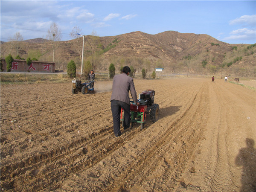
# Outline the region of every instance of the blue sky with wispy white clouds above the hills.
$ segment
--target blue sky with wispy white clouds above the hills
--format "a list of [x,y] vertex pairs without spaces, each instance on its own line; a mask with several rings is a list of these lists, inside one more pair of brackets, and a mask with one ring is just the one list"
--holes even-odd
[[63,41],[81,34],[115,36],[141,31],[207,34],[230,44],[256,43],[256,1],[68,1],[1,0],[1,41],[46,38],[52,22]]

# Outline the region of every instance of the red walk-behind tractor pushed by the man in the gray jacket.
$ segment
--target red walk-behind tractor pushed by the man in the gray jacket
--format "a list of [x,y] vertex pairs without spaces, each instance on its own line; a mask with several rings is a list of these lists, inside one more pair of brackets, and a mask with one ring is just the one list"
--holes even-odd
[[[140,123],[141,130],[143,129],[144,123],[146,122],[146,114],[150,114],[151,122],[156,122],[159,118],[159,105],[154,103],[154,90],[145,90],[139,94],[138,102],[140,105],[135,105],[135,103],[130,100],[130,115],[131,115],[131,127],[133,123]],[[121,109],[120,120],[123,125],[124,116],[123,109]]]

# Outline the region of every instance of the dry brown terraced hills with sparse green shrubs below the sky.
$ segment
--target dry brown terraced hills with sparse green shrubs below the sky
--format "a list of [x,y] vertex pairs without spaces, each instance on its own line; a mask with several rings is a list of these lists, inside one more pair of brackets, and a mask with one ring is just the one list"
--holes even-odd
[[[56,67],[65,67],[72,59],[77,67],[81,66],[82,40],[51,41],[36,38],[22,42],[4,42],[1,44],[1,57],[12,53],[22,58],[38,58],[53,61]],[[53,47],[54,45],[54,47]],[[14,56],[15,58],[15,56]],[[115,66],[143,67],[148,71],[154,67],[166,70],[188,67],[199,68],[245,68],[255,70],[255,44],[227,44],[209,35],[179,33],[175,31],[150,35],[144,32],[130,32],[116,36],[85,36],[84,61],[90,61],[94,69],[107,69],[110,63]]]

